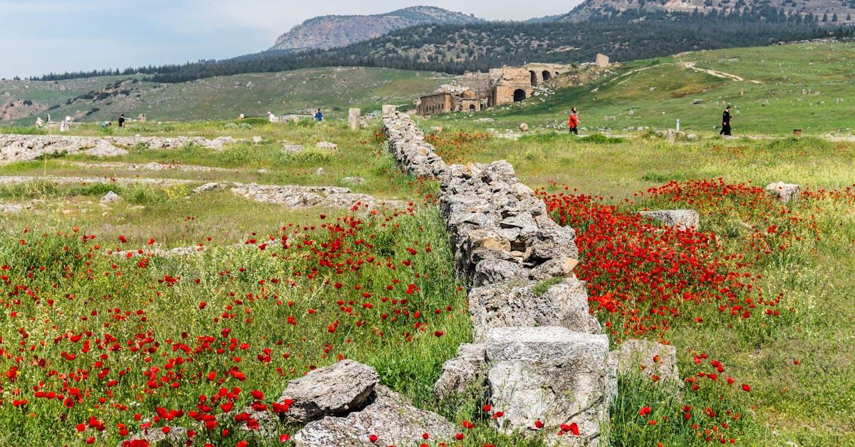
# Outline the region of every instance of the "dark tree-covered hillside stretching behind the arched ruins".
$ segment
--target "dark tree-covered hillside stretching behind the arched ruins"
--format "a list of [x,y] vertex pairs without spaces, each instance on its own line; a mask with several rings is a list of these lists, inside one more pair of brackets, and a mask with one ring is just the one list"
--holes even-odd
[[[665,57],[681,51],[769,45],[780,41],[846,37],[852,27],[765,21],[763,16],[717,18],[683,15],[680,20],[623,19],[585,23],[504,22],[465,26],[409,27],[344,48],[268,54],[217,63],[139,69],[156,82],[183,82],[218,75],[352,66],[463,74],[529,62],[591,62],[597,53],[614,61]],[[728,36],[722,39],[722,36]]]

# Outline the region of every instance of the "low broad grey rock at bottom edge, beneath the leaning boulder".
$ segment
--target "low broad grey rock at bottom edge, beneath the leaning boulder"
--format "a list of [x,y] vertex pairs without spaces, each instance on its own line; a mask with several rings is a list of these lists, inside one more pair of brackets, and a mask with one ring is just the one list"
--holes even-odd
[[[454,429],[439,414],[413,407],[403,396],[378,385],[374,401],[362,411],[310,422],[293,441],[297,447],[420,445],[450,441]],[[428,433],[428,441],[422,438],[424,433]],[[371,435],[377,437],[374,442]]]

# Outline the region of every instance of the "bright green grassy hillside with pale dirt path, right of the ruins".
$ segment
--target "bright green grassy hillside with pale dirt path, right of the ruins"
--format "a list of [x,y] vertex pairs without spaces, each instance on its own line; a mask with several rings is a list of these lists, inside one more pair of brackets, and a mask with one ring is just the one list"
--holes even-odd
[[852,41],[682,53],[623,64],[591,85],[475,116],[475,125],[501,132],[520,122],[563,127],[575,106],[587,133],[674,128],[679,119],[684,131],[716,134],[722,110],[732,104],[735,134],[783,135],[801,128],[805,134],[852,135],[853,61]]

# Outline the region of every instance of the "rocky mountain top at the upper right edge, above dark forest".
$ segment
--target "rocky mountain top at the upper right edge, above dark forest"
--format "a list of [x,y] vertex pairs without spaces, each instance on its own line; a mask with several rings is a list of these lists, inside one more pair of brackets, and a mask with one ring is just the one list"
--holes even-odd
[[559,21],[581,22],[621,15],[645,17],[658,13],[809,15],[826,25],[852,23],[855,0],[585,0]]

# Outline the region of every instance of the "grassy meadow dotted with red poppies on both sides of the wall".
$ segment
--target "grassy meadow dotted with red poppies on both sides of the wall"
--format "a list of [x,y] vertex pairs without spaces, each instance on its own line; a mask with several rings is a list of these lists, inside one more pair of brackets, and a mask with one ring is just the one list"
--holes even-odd
[[[115,160],[223,170],[87,175],[333,186],[361,176],[355,192],[406,206],[295,211],[183,186],[116,187],[126,200],[103,206],[102,187],[3,186],[3,202],[36,205],[0,215],[0,444],[118,445],[183,427],[190,445],[289,445],[299,426],[263,433],[243,409],[278,417],[288,379],[348,358],[451,420],[448,445],[543,445],[536,430],[492,431],[502,408],[478,390],[433,397],[442,363],[471,341],[467,284],[434,206],[436,183],[399,174],[376,129],[149,126],[143,134],[265,141],[216,153],[131,148]],[[283,157],[283,138],[340,149]],[[610,445],[855,442],[855,171],[846,161],[855,147],[515,141],[466,128],[430,138],[450,162],[509,159],[551,217],[576,230],[575,273],[613,349],[632,338],[677,349],[679,392],[656,377],[619,378]],[[82,175],[80,164],[95,161],[41,159],[0,173]],[[801,184],[799,200],[764,191],[779,180]],[[681,208],[700,213],[698,228],[638,214]],[[156,253],[171,247],[198,249]]]

